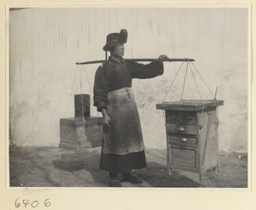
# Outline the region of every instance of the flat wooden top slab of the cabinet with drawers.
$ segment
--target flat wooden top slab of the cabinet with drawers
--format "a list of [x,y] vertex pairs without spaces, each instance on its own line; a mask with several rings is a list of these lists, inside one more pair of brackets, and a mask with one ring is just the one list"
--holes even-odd
[[[214,105],[213,105],[214,104]],[[205,109],[215,108],[219,105],[224,105],[224,100],[180,100],[175,102],[163,102],[156,104],[157,110],[171,111],[201,111]]]

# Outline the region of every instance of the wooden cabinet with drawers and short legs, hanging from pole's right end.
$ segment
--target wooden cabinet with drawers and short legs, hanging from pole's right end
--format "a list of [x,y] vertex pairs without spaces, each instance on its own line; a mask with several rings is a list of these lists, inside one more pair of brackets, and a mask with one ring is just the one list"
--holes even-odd
[[200,174],[219,170],[218,106],[223,100],[181,100],[157,104],[165,110],[167,167]]

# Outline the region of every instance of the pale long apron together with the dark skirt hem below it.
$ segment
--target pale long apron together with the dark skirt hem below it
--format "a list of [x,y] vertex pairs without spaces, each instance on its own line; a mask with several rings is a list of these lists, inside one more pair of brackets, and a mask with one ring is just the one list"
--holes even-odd
[[100,167],[113,173],[146,167],[143,133],[131,88],[108,93],[110,127],[103,129]]

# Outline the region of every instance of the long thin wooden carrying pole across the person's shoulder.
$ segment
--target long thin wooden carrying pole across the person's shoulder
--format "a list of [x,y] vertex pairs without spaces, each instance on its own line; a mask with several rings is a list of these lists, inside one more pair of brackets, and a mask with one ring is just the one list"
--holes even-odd
[[[133,62],[151,62],[151,61],[156,61],[156,60],[159,60],[159,59],[125,59],[126,61],[133,61]],[[79,63],[77,62],[76,65],[87,65],[87,64],[98,64],[98,63],[103,63],[104,61],[106,60],[92,60],[92,61],[86,61],[86,62],[82,62],[82,63]],[[185,62],[188,62],[188,61],[195,61],[194,59],[164,59],[162,61],[165,61],[165,62],[180,62],[180,61],[185,61]]]

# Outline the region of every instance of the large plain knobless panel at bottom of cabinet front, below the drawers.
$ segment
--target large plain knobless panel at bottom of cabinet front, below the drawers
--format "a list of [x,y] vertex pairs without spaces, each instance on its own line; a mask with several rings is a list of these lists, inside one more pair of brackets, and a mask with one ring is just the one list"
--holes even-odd
[[172,146],[170,149],[171,149],[171,160],[170,160],[171,165],[180,166],[180,167],[198,168],[196,149],[182,150],[174,146]]

